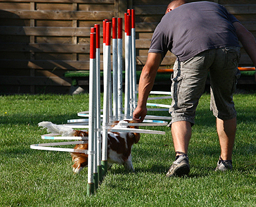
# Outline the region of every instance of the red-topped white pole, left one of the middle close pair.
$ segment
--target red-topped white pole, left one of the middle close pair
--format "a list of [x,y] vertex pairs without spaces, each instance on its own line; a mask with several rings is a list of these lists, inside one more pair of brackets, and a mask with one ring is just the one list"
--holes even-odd
[[113,120],[118,119],[118,39],[117,18],[112,18],[112,62],[113,62]]

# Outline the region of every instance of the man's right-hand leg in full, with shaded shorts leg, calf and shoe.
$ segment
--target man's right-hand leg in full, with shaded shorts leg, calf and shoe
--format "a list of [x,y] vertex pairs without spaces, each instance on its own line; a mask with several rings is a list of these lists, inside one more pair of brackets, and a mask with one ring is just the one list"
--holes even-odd
[[221,146],[221,155],[215,170],[232,169],[232,149],[237,128],[237,112],[232,94],[240,76],[237,69],[239,57],[239,48],[219,48],[210,67],[210,107],[213,115],[217,117],[217,133]]

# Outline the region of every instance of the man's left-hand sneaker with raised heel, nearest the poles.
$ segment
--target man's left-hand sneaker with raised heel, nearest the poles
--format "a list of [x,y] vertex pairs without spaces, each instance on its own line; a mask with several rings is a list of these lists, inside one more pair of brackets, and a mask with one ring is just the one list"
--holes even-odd
[[170,169],[168,170],[166,176],[182,176],[188,175],[190,172],[190,164],[188,161],[188,155],[181,155],[178,159],[176,159]]

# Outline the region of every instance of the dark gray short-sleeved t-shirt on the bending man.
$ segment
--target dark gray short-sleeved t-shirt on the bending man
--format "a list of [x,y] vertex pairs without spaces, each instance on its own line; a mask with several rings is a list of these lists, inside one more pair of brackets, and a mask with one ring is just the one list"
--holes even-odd
[[205,50],[239,47],[232,25],[238,21],[226,8],[210,1],[185,3],[168,12],[158,23],[149,52],[165,57],[170,50],[185,61]]

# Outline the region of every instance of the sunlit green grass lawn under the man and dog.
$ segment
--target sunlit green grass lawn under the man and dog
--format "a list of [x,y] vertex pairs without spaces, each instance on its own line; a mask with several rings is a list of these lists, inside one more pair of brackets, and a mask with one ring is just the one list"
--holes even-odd
[[165,177],[174,159],[170,128],[147,127],[166,135],[141,135],[132,150],[135,172],[114,165],[91,197],[86,196],[86,170],[73,175],[68,152],[30,149],[48,142],[41,139],[46,130],[38,122],[77,119],[77,112],[88,109],[88,98],[0,97],[0,206],[256,206],[255,94],[234,97],[238,125],[231,172],[214,172],[219,142],[210,95],[203,95],[192,129],[188,177]]

